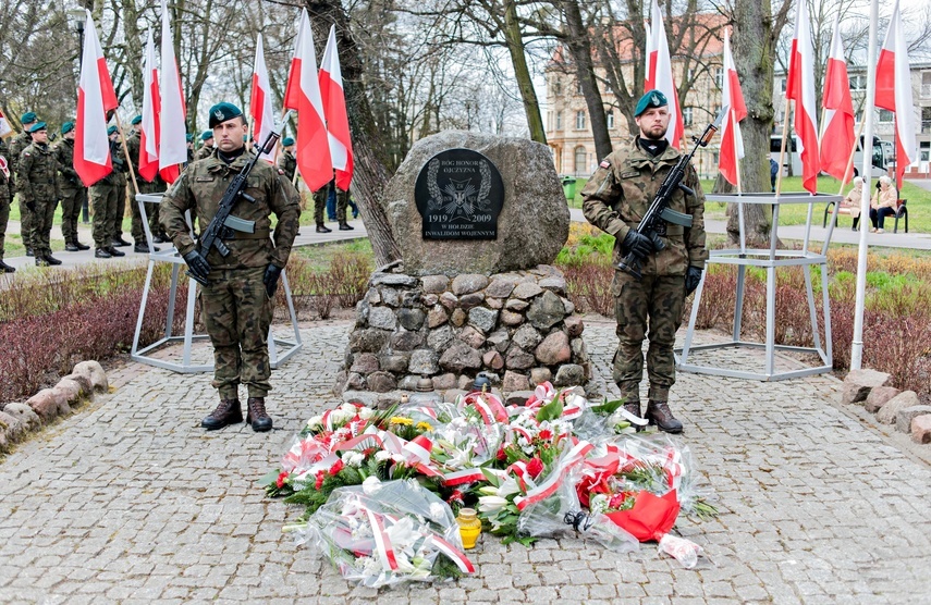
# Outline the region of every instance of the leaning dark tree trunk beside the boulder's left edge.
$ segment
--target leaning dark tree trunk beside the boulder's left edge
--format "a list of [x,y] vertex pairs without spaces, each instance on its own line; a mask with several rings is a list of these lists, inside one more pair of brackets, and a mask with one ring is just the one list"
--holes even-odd
[[[353,136],[355,168],[353,171],[353,199],[358,203],[363,222],[371,240],[375,260],[378,266],[388,264],[401,258],[401,251],[391,232],[391,223],[381,205],[384,186],[391,176],[385,168],[388,153],[381,133],[375,122],[368,104],[363,65],[359,50],[350,29],[350,21],[339,0],[314,2],[305,0],[307,12],[315,27],[315,38],[326,40],[322,29],[330,23],[336,25],[336,42],[340,52],[343,86],[346,96],[346,111]],[[318,57],[321,53],[318,52]]]

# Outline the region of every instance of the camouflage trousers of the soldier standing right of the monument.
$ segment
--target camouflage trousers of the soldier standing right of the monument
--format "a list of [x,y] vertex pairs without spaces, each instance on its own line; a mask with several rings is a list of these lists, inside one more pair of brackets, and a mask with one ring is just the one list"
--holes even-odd
[[649,398],[667,402],[675,383],[675,333],[682,323],[685,301],[684,275],[644,275],[639,282],[624,273],[614,272],[611,284],[615,296],[617,319],[617,351],[614,354],[614,382],[628,402],[640,400],[644,376],[644,338],[648,335],[647,373],[650,378]]

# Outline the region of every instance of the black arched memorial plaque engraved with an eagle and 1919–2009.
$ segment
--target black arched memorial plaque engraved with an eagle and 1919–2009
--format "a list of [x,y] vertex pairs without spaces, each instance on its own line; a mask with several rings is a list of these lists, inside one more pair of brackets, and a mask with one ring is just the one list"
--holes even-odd
[[414,187],[424,239],[497,239],[504,183],[471,149],[448,149],[424,165]]

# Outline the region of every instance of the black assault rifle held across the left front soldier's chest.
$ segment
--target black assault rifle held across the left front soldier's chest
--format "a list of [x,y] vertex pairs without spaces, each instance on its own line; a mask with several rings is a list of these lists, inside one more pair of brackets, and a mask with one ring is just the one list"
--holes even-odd
[[[255,233],[255,221],[246,221],[244,219],[233,217],[231,212],[241,198],[249,203],[256,202],[256,199],[245,192],[246,184],[249,180],[249,173],[252,173],[253,169],[256,166],[256,162],[258,162],[258,159],[262,153],[270,153],[274,149],[274,145],[278,143],[278,139],[281,138],[281,129],[284,127],[284,124],[287,122],[290,116],[291,111],[289,110],[287,113],[284,114],[284,118],[282,118],[281,122],[277,126],[272,126],[271,132],[268,134],[268,137],[266,137],[261,148],[256,149],[256,153],[253,155],[252,159],[243,166],[243,170],[241,170],[240,173],[230,182],[230,185],[226,186],[226,190],[223,193],[223,198],[220,200],[220,206],[217,208],[217,213],[213,214],[213,219],[210,221],[210,224],[207,225],[207,229],[204,230],[198,239],[197,251],[200,252],[200,256],[204,257],[205,260],[207,259],[207,255],[210,252],[211,248],[217,248],[220,256],[226,258],[230,255],[230,248],[223,244],[223,239],[234,237],[234,231]],[[200,285],[210,285],[209,281],[194,275],[191,271],[186,271],[186,273],[192,280],[196,281]]]

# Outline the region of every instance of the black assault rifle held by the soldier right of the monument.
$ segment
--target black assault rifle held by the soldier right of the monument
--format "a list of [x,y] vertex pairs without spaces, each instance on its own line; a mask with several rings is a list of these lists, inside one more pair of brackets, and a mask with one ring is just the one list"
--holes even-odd
[[[721,111],[718,112],[718,116],[714,118],[714,122],[705,128],[705,133],[702,133],[700,137],[691,137],[691,140],[695,141],[695,147],[691,148],[691,151],[687,156],[682,156],[678,159],[678,163],[676,163],[670,173],[666,174],[666,177],[660,185],[659,190],[657,190],[656,197],[653,197],[652,203],[650,203],[650,207],[647,209],[647,213],[644,214],[644,219],[640,221],[640,224],[637,225],[637,229],[635,230],[637,233],[646,235],[647,237],[650,237],[650,239],[654,239],[651,235],[657,233],[658,227],[661,225],[660,221],[682,225],[686,229],[691,226],[691,215],[676,212],[670,208],[670,200],[672,200],[672,196],[676,189],[682,189],[687,196],[695,196],[695,190],[690,187],[686,187],[682,183],[682,180],[685,178],[685,171],[688,169],[691,157],[695,156],[698,148],[707,146],[714,137],[714,133],[716,133],[718,128],[721,126],[721,121],[724,119],[724,115],[726,115],[728,109],[730,108],[727,106],[721,108]],[[629,252],[621,262],[618,262],[617,269],[625,273],[629,273],[637,280],[642,277],[640,274],[640,257],[634,252]]]

